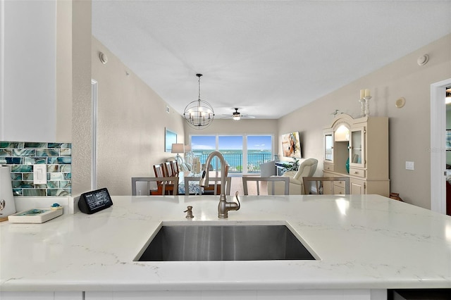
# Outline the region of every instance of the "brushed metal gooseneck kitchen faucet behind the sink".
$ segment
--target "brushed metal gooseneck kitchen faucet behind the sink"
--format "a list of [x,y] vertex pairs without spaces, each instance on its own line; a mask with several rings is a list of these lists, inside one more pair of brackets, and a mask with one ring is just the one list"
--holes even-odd
[[213,151],[206,158],[205,167],[202,171],[202,177],[199,180],[199,185],[201,187],[209,186],[209,165],[211,163],[211,159],[214,156],[218,156],[219,161],[221,161],[221,195],[219,196],[219,204],[218,204],[218,218],[226,219],[228,218],[228,211],[237,211],[240,209],[240,202],[227,202],[226,199],[226,173],[224,170],[226,169],[226,160],[224,156],[219,151]]

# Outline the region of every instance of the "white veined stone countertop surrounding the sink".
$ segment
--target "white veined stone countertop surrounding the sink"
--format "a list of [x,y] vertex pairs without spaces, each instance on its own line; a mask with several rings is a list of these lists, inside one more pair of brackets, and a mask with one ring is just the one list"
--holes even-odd
[[[112,199],[93,215],[1,223],[0,290],[451,288],[451,217],[383,196],[242,196],[227,220],[218,196]],[[162,222],[287,224],[319,260],[133,261]]]

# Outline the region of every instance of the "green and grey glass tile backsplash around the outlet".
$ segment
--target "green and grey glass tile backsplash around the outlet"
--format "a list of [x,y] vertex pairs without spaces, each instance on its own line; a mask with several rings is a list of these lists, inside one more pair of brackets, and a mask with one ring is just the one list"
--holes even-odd
[[[2,142],[0,165],[11,168],[14,196],[70,196],[70,143]],[[33,165],[47,165],[47,185],[33,183]]]

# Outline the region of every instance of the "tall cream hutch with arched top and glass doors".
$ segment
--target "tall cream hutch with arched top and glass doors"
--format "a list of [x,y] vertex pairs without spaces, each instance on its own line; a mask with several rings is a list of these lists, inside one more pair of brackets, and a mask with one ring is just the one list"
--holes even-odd
[[387,117],[342,114],[323,137],[324,176],[349,176],[351,194],[390,195]]

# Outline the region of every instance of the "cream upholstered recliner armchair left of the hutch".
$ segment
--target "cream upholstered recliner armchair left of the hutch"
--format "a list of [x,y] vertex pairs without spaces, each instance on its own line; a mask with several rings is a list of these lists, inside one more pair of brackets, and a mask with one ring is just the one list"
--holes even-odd
[[[304,182],[302,182],[302,177],[313,176],[317,166],[317,159],[308,158],[299,165],[297,171],[287,171],[283,173],[282,176],[290,177],[290,195],[304,194]],[[274,189],[274,194],[283,194],[283,185],[280,185],[280,182],[276,182]],[[272,185],[268,185],[268,194],[272,194]]]

